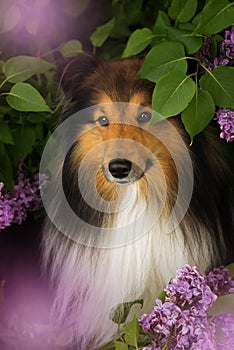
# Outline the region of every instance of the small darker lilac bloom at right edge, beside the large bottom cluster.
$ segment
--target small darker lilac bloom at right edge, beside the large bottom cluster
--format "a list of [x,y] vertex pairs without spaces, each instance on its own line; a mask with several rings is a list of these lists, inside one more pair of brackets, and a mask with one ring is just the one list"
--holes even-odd
[[205,276],[207,285],[217,296],[234,293],[234,281],[223,266],[215,268]]

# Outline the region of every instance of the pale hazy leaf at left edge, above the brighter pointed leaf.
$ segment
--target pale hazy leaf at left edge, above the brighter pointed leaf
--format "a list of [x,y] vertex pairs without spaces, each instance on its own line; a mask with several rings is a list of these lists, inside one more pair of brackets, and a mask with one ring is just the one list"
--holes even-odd
[[3,65],[3,73],[11,83],[18,83],[34,74],[43,74],[54,67],[54,64],[39,57],[16,56]]

